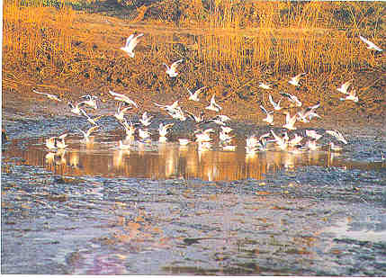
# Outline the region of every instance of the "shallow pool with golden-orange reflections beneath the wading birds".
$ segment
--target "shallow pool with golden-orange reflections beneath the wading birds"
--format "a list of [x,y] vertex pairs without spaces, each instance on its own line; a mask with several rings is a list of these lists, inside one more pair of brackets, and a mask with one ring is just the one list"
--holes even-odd
[[239,139],[234,151],[213,144],[211,150],[200,151],[196,143],[180,146],[178,142],[130,142],[130,149],[118,148],[119,135],[95,136],[88,142],[68,136],[68,147],[49,151],[46,138],[14,139],[4,149],[4,161],[19,165],[43,166],[58,175],[89,175],[104,177],[138,177],[151,179],[201,179],[231,181],[263,179],[267,173],[293,171],[299,166],[337,166],[345,169],[376,170],[385,168],[382,162],[357,162],[345,159],[343,153],[330,152],[328,147],[301,153],[271,148],[248,155],[244,140]]

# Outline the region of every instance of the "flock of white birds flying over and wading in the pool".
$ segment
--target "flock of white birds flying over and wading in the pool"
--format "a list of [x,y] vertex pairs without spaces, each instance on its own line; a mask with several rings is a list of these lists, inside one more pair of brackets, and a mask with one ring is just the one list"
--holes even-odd
[[[125,51],[130,58],[134,58],[135,54],[133,50],[139,43],[139,39],[143,36],[142,33],[139,35],[131,34],[130,37],[126,40],[126,44],[121,50]],[[364,43],[367,44],[368,49],[374,49],[376,51],[382,51],[381,48],[376,46],[372,41],[364,39],[362,36],[359,37]],[[179,59],[175,61],[170,67],[165,63],[163,65],[166,66],[166,74],[170,78],[175,78],[178,76],[177,68],[179,64],[183,62],[183,59]],[[288,84],[293,85],[295,87],[301,86],[301,77],[306,75],[306,73],[301,73],[297,76],[292,77]],[[358,96],[356,95],[355,89],[348,90],[350,85],[352,85],[353,80],[349,80],[339,88],[337,91],[341,94],[344,94],[345,97],[340,98],[341,101],[353,101],[358,102]],[[272,85],[265,84],[264,82],[260,82],[259,87],[266,92],[273,92]],[[192,92],[187,89],[188,100],[192,102],[200,102],[200,94],[207,87],[203,86]],[[62,102],[58,96],[54,94],[40,93],[36,90],[33,90],[36,94],[44,94],[49,99],[54,100],[56,102]],[[141,142],[149,142],[151,141],[152,133],[148,129],[152,116],[148,115],[148,112],[143,112],[139,122],[133,123],[132,121],[127,121],[125,118],[125,113],[130,111],[131,109],[139,108],[138,104],[130,99],[125,94],[118,94],[112,91],[109,91],[110,96],[117,102],[117,110],[114,112],[113,116],[115,119],[121,124],[122,129],[125,131],[126,137],[118,142],[117,148],[121,150],[129,150],[132,146],[132,143],[135,141],[135,137]],[[342,149],[340,145],[337,145],[337,142],[347,144],[347,140],[338,130],[325,130],[325,134],[319,134],[316,130],[305,130],[305,134],[300,134],[300,132],[296,133],[293,130],[297,130],[295,123],[297,121],[301,122],[310,122],[314,118],[321,118],[317,113],[317,110],[320,106],[320,103],[316,103],[310,107],[302,108],[303,104],[299,100],[299,98],[294,94],[288,93],[279,93],[281,95],[281,99],[277,102],[274,101],[273,94],[268,93],[269,103],[272,107],[264,107],[260,105],[260,108],[263,112],[265,112],[266,117],[263,121],[266,122],[269,126],[274,126],[274,112],[280,112],[283,110],[283,114],[285,115],[285,123],[282,125],[281,133],[276,134],[274,130],[270,130],[263,135],[253,134],[246,139],[245,150],[247,155],[253,155],[257,151],[265,151],[270,148],[279,148],[281,150],[287,150],[290,152],[300,152],[304,150],[315,150],[323,147],[323,145],[318,144],[319,139],[323,137],[323,135],[329,135],[331,137],[330,142],[328,144],[328,148],[331,151],[339,151]],[[289,105],[284,107],[282,105],[282,101],[286,100]],[[83,135],[85,141],[87,141],[90,136],[93,134],[95,130],[99,128],[97,121],[101,119],[103,116],[98,116],[96,118],[92,118],[86,112],[86,108],[89,109],[98,109],[98,97],[95,95],[87,94],[81,96],[78,103],[68,102],[67,105],[71,112],[74,114],[85,117],[85,119],[92,125],[88,130],[79,130]],[[220,114],[219,112],[222,110],[222,107],[216,103],[215,95],[211,96],[211,102],[204,109],[211,112],[217,112],[219,114],[211,117],[210,119],[205,119],[205,112],[201,112],[200,115],[195,115],[191,112],[184,112],[183,108],[179,105],[178,100],[171,104],[161,104],[154,103],[161,111],[166,112],[171,118],[179,121],[194,121],[196,130],[189,138],[180,138],[178,139],[178,143],[181,146],[186,146],[191,143],[196,143],[198,150],[208,150],[214,148],[214,138],[211,137],[211,134],[218,133],[219,147],[223,150],[234,151],[237,146],[232,144],[234,139],[234,135],[231,135],[232,128],[228,126],[228,122],[230,118],[226,115]],[[293,109],[298,109],[297,112],[294,112],[291,115],[290,111]],[[202,124],[204,123],[215,123],[217,129],[215,128],[207,128],[202,129]],[[166,135],[169,130],[174,126],[175,123],[163,123],[159,124],[157,129],[158,140],[160,142],[166,142]],[[277,126],[276,126],[277,127]],[[285,130],[285,131],[283,131]],[[138,131],[138,132],[137,132]],[[292,132],[289,134],[289,132]],[[67,148],[66,139],[67,133],[62,134],[58,137],[51,137],[46,139],[46,147],[51,151],[55,150],[63,150]],[[334,139],[334,140],[332,140]],[[302,143],[302,141],[306,141]],[[52,155],[51,153],[50,155]]]

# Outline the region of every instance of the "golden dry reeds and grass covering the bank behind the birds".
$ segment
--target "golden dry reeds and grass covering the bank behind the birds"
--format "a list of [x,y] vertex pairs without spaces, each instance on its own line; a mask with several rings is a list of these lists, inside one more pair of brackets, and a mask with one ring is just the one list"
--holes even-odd
[[[378,25],[368,27],[368,21],[376,24],[382,17],[382,4],[371,4],[370,19],[362,3],[216,2],[207,17],[181,22],[200,29],[176,29],[154,20],[148,20],[151,26],[130,26],[113,17],[75,12],[65,4],[56,9],[39,2],[23,6],[18,0],[7,0],[4,89],[43,87],[65,95],[75,87],[92,91],[107,86],[146,98],[159,93],[177,97],[186,94],[185,87],[209,85],[223,100],[239,100],[258,94],[259,81],[287,89],[286,78],[308,72],[306,89],[299,94],[307,102],[328,104],[332,86],[364,69],[382,72],[384,68],[384,56],[375,56],[357,39],[363,34],[382,42],[384,30]],[[200,1],[192,3],[189,8],[195,14],[194,3]],[[343,5],[350,11],[346,25],[331,16]],[[119,48],[133,31],[146,36],[131,59]],[[170,80],[162,62],[179,58],[184,58],[182,74]],[[314,94],[319,98],[310,97]],[[264,102],[264,94],[257,95],[257,100]]]

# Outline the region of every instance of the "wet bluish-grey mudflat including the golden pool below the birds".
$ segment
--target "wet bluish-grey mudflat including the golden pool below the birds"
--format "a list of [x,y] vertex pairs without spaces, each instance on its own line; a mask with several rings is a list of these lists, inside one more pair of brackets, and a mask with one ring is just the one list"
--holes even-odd
[[[246,134],[265,128],[238,124],[236,151],[200,154],[175,143],[189,130],[176,125],[166,143],[121,152],[118,125],[87,147],[80,124],[7,127],[4,274],[386,274],[384,141],[347,134],[340,154],[246,157]],[[69,146],[50,160],[44,140],[60,125]]]

